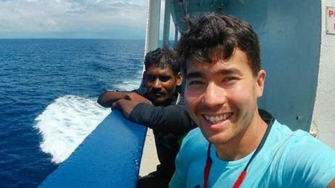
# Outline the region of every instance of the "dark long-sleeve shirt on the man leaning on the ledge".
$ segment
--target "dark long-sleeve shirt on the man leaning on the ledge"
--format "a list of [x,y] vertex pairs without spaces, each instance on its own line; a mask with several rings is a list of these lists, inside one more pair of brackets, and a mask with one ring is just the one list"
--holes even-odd
[[131,120],[154,131],[157,155],[161,162],[157,171],[169,179],[174,173],[174,159],[179,152],[181,140],[196,127],[186,107],[176,104],[176,101],[177,99],[173,100],[172,104],[166,107],[140,103],[130,114]]

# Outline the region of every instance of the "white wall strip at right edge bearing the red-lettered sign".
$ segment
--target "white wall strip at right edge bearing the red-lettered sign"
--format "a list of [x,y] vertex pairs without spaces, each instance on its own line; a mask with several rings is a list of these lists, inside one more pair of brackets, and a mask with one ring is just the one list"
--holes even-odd
[[[330,9],[332,10],[329,10]],[[311,120],[311,133],[335,148],[335,1],[321,1],[318,79]],[[334,14],[332,14],[332,12]],[[326,23],[327,21],[327,23]],[[332,33],[327,31],[327,24]],[[306,38],[308,40],[308,38]]]

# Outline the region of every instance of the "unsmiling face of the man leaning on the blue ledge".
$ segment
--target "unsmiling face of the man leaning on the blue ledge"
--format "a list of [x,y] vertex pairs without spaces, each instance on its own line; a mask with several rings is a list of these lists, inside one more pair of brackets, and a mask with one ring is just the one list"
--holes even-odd
[[144,72],[144,82],[149,94],[149,100],[154,104],[162,104],[170,100],[181,85],[181,74],[174,75],[172,68],[159,68],[157,64]]

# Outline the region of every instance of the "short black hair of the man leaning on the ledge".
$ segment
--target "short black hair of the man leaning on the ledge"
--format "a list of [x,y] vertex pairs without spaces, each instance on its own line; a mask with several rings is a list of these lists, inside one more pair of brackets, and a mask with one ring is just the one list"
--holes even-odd
[[167,48],[157,48],[145,55],[144,59],[145,70],[148,70],[152,65],[158,65],[159,68],[172,68],[174,75],[180,71],[180,63],[177,61],[177,52]]

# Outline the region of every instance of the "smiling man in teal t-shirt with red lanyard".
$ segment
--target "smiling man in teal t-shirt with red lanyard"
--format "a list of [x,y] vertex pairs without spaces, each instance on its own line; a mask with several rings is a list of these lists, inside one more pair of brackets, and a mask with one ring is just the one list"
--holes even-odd
[[335,187],[334,150],[258,109],[266,72],[251,26],[218,14],[188,23],[177,50],[199,128],[182,143],[170,187]]

